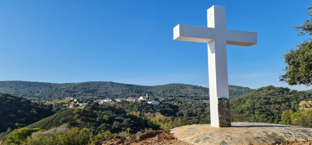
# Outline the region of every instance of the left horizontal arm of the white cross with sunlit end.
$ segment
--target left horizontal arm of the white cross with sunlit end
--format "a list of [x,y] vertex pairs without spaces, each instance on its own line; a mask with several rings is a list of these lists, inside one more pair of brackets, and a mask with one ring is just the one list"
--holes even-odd
[[181,24],[173,28],[173,40],[208,43],[214,37],[214,28]]

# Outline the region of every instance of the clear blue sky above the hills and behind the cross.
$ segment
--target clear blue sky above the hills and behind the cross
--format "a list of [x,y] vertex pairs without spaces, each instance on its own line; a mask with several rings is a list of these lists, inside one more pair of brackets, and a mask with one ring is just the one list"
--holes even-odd
[[173,41],[177,24],[207,26],[226,7],[227,29],[258,33],[251,47],[227,45],[229,84],[307,90],[279,81],[309,1],[0,1],[0,80],[113,81],[208,87],[207,44]]

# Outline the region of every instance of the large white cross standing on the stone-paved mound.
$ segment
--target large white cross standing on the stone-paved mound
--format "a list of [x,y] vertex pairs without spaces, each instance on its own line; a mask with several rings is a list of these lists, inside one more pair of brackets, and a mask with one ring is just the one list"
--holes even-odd
[[207,27],[179,24],[173,28],[173,39],[208,43],[211,126],[225,127],[219,122],[224,116],[218,111],[218,98],[229,99],[226,44],[254,45],[257,33],[226,29],[225,7],[214,5],[207,10]]

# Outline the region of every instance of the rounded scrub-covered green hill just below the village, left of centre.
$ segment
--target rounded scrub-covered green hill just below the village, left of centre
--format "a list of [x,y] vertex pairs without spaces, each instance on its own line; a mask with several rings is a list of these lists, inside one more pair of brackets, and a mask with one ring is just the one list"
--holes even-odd
[[92,131],[110,130],[117,133],[127,128],[130,128],[131,132],[137,132],[151,127],[142,118],[128,115],[121,105],[92,103],[84,109],[69,109],[58,112],[28,125],[26,128],[51,129],[63,124],[69,127],[89,128]]

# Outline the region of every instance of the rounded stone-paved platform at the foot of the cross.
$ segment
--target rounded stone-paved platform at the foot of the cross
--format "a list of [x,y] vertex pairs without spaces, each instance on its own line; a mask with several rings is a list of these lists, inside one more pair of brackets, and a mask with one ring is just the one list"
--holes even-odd
[[233,122],[232,127],[209,124],[171,129],[179,140],[191,144],[276,144],[312,140],[312,128],[253,122]]

